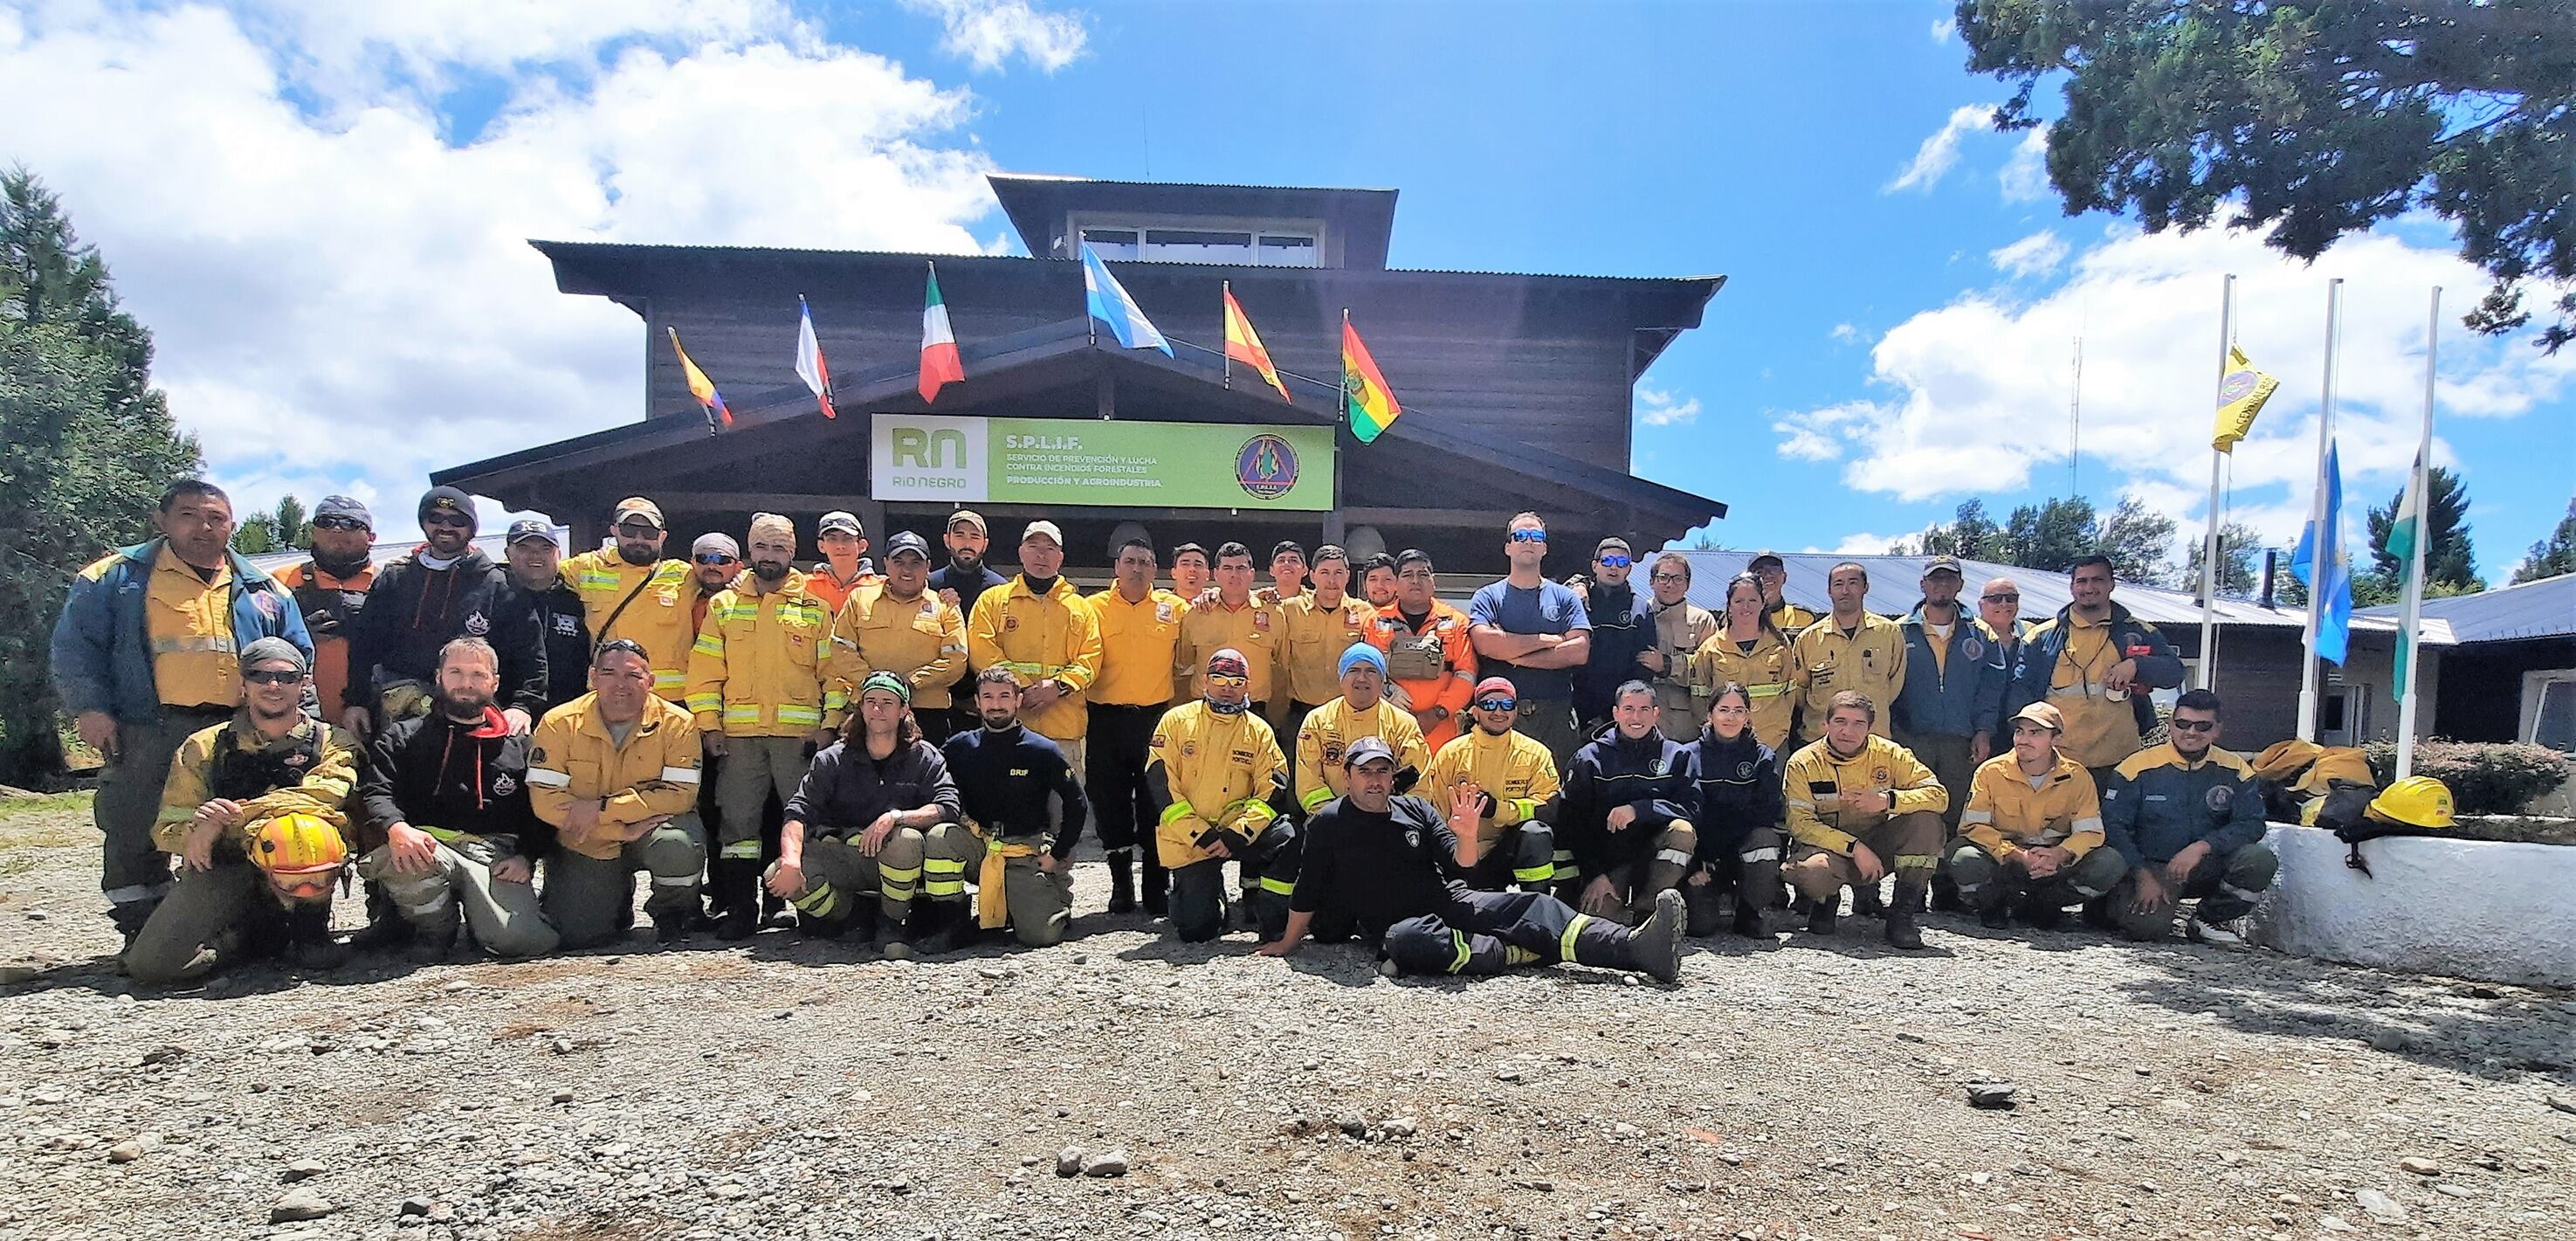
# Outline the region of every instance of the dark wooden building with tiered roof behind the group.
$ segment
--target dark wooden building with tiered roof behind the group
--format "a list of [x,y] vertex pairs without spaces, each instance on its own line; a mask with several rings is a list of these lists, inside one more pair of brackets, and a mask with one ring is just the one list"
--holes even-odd
[[[1551,572],[1574,572],[1600,536],[1662,546],[1726,505],[1628,474],[1633,386],[1672,340],[1700,324],[1723,278],[1515,275],[1386,265],[1394,191],[1170,185],[994,175],[992,188],[1036,257],[533,242],[564,294],[636,312],[641,420],[435,474],[440,484],[541,510],[595,546],[608,507],[649,494],[677,546],[742,533],[755,510],[811,536],[827,510],[938,538],[953,505],[871,497],[871,415],[984,415],[1231,425],[1340,425],[1342,312],[1368,340],[1404,417],[1370,445],[1337,433],[1340,505],[1244,507],[997,505],[994,559],[1018,525],[1051,518],[1069,561],[1097,569],[1113,530],[1180,541],[1345,541],[1352,551],[1422,546],[1443,569],[1499,572],[1512,512],[1551,520]],[[1074,237],[1110,263],[1172,340],[1172,358],[1092,335]],[[914,373],[925,268],[940,291],[966,381],[922,404]],[[1252,317],[1283,402],[1221,366],[1221,286]],[[796,296],[814,306],[835,366],[837,420],[796,381]],[[708,435],[680,381],[667,330],[726,391],[734,427]]]

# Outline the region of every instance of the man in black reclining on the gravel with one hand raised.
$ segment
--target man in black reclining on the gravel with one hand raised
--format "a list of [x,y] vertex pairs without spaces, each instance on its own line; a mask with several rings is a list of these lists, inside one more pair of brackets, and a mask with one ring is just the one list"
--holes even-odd
[[1378,736],[1342,754],[1350,793],[1306,821],[1306,855],[1288,899],[1285,932],[1262,955],[1296,953],[1306,937],[1365,937],[1388,973],[1502,973],[1512,966],[1574,960],[1682,971],[1682,893],[1664,888],[1636,929],[1574,911],[1538,891],[1473,891],[1476,821],[1484,793],[1463,783],[1448,819],[1422,798],[1396,796],[1396,752]]

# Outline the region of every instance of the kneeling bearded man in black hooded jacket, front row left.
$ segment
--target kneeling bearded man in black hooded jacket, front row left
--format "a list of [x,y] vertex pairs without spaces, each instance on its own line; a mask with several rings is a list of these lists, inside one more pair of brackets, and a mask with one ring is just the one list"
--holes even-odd
[[438,651],[430,713],[384,726],[368,747],[358,873],[384,883],[412,927],[412,960],[446,960],[459,924],[505,958],[556,945],[533,865],[551,834],[528,808],[528,736],[492,705],[497,685],[492,644],[456,639]]

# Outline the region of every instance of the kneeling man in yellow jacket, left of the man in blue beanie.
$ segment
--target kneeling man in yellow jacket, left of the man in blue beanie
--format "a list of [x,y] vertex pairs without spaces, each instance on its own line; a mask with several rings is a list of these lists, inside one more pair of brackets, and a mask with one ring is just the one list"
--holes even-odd
[[1252,669],[1236,649],[1208,657],[1206,698],[1162,716],[1146,757],[1159,826],[1154,850],[1172,873],[1172,935],[1213,940],[1226,929],[1226,863],[1244,891],[1262,942],[1288,929],[1298,834],[1288,811],[1288,760],[1270,723],[1252,713]]

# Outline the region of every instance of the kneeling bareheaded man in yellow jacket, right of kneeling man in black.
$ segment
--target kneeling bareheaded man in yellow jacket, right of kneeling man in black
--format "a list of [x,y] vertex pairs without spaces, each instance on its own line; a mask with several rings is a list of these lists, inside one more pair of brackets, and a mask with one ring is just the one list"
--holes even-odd
[[652,685],[644,646],[608,639],[590,657],[590,693],[528,739],[528,803],[556,832],[544,906],[564,947],[626,935],[636,870],[652,873],[644,911],[662,942],[685,940],[698,911],[698,723]]

